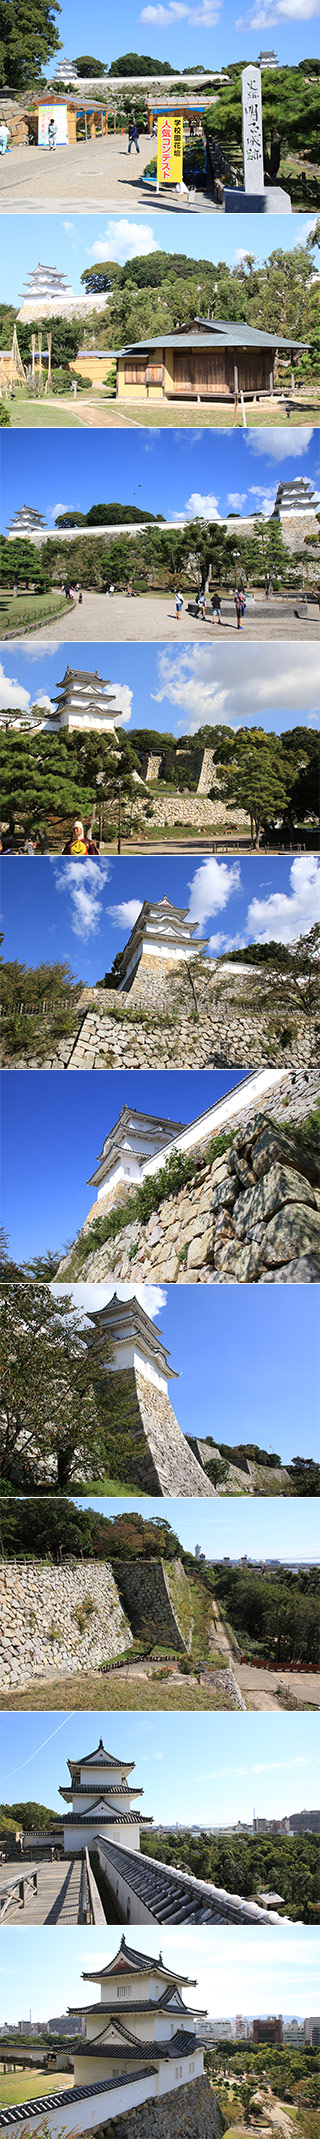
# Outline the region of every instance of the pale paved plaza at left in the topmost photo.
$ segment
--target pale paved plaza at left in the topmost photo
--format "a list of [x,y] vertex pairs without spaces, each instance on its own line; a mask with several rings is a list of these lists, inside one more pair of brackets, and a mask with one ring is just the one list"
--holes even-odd
[[[109,210],[109,207],[137,207],[154,210],[166,207],[175,214],[188,207],[188,195],[177,193],[175,186],[156,193],[156,186],[143,186],[143,171],[156,152],[156,143],[147,135],[141,135],[141,150],[130,150],[128,156],[128,135],[109,135],[96,141],[77,141],[75,148],[58,148],[55,154],[49,150],[30,150],[23,143],[13,148],[9,156],[0,158],[0,201],[6,214],[41,214],[41,210]],[[196,193],[188,214],[201,214],[205,210],[215,210],[215,201],[207,195]]]

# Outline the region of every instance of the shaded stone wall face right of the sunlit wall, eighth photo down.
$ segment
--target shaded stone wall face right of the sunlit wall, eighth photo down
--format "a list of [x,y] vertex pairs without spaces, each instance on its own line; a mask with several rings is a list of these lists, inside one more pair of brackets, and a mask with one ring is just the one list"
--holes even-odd
[[[181,1559],[119,1559],[117,1583],[132,1634],[147,1626],[147,1638],[171,1643],[173,1649],[190,1649],[192,1604],[190,1583]],[[183,1632],[183,1630],[186,1632]]]

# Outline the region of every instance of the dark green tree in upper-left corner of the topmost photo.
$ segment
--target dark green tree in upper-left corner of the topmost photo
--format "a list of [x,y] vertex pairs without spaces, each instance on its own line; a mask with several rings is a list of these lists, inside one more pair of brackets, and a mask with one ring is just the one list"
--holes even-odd
[[0,0],[0,81],[13,94],[41,81],[41,71],[60,51],[58,0]]

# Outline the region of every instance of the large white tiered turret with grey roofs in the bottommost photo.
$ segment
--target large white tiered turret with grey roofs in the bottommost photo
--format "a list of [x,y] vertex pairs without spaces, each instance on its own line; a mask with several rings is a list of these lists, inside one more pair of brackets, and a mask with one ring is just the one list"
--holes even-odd
[[75,2053],[75,2086],[94,2079],[126,2075],[134,2081],[139,2068],[154,2075],[151,2090],[158,2096],[181,2088],[203,2073],[203,2041],[196,2036],[196,2021],[205,2013],[183,2004],[183,1989],[194,1989],[194,1979],[166,1968],[162,1953],[158,1961],[122,1944],[115,1959],[105,1968],[83,1970],[83,1983],[100,1985],[100,2002],[73,2009],[85,2019],[85,2041]]

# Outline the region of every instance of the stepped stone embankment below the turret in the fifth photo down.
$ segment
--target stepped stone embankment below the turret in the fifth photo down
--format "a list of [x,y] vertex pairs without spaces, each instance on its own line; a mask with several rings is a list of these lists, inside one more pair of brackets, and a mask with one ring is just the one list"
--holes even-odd
[[75,1035],[58,1048],[47,1033],[45,1061],[34,1055],[6,1057],[15,1070],[252,1070],[314,1063],[316,1033],[299,1003],[273,1003],[256,967],[190,965],[143,956],[128,995],[117,988],[83,988]]

